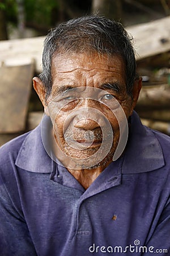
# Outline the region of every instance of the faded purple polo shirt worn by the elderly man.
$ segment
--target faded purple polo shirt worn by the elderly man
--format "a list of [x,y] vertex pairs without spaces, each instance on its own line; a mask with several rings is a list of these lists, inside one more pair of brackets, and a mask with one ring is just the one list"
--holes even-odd
[[124,154],[85,191],[40,130],[0,149],[1,256],[170,255],[168,136],[134,112]]

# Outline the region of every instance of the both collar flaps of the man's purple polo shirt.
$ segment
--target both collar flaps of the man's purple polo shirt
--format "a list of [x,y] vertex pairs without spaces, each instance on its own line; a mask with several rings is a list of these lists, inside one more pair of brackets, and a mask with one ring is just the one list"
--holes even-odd
[[[135,112],[131,117],[130,134],[123,158],[123,174],[148,172],[164,166],[163,152],[158,139],[152,130],[142,125]],[[41,123],[25,138],[15,164],[31,172],[53,171],[55,164],[42,143]]]

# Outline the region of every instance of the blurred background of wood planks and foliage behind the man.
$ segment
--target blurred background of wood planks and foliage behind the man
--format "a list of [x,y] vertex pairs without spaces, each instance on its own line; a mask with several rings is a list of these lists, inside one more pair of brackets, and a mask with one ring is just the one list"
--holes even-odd
[[135,109],[143,124],[170,135],[170,0],[0,0],[0,146],[41,121],[32,88],[44,36],[78,16],[99,13],[134,37],[143,88]]

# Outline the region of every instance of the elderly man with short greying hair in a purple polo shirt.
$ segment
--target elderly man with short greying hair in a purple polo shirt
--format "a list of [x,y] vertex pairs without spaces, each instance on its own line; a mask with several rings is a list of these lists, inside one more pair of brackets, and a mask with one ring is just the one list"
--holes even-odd
[[42,122],[0,150],[1,255],[169,255],[170,139],[134,112],[131,38],[84,16],[42,58]]

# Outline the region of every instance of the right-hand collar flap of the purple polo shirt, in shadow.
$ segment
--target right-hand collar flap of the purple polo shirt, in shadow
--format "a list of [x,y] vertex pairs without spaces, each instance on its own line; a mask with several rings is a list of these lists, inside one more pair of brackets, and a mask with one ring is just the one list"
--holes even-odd
[[149,172],[164,166],[162,147],[154,132],[143,126],[138,114],[131,116],[131,126],[124,154],[122,173]]

